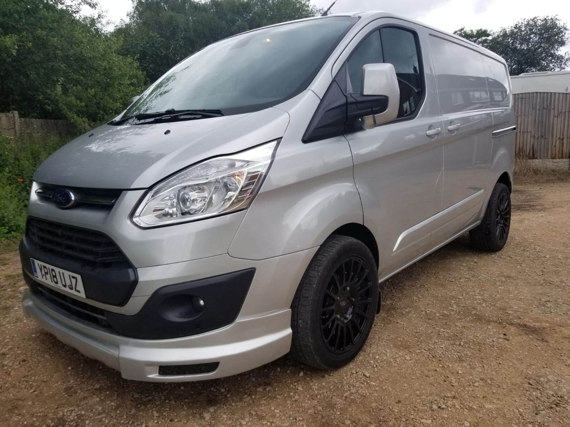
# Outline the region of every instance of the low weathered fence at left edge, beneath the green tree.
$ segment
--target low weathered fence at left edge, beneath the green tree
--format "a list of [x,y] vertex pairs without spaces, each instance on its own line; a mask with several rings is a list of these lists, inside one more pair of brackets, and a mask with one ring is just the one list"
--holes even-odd
[[35,137],[56,135],[70,137],[75,133],[74,126],[65,120],[40,120],[20,118],[17,111],[0,113],[0,133],[9,137]]

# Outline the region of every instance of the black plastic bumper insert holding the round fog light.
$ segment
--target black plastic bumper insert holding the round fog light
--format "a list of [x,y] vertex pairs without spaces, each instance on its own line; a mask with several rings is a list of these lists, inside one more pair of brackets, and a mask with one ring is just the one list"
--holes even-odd
[[180,338],[213,331],[237,319],[254,274],[250,268],[164,286],[139,313],[127,316],[105,311],[105,317],[115,331],[129,338]]

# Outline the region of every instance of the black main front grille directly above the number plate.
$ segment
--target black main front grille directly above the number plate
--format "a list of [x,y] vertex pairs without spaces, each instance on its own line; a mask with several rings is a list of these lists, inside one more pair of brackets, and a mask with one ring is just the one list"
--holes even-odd
[[108,236],[84,228],[30,218],[26,236],[40,249],[96,267],[131,264]]

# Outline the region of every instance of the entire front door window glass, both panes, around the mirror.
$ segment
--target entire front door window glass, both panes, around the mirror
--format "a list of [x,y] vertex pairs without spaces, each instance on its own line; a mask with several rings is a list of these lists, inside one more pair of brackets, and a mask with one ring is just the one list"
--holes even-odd
[[362,88],[362,67],[366,64],[394,65],[400,85],[398,118],[412,116],[420,106],[424,92],[420,52],[412,31],[384,27],[370,34],[347,61],[348,92],[359,93]]

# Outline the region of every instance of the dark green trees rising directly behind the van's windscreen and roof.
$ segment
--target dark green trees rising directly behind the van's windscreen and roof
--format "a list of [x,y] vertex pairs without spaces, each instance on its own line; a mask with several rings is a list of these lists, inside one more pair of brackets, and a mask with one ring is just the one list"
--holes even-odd
[[310,0],[133,0],[129,21],[114,34],[150,81],[217,40],[319,13]]

